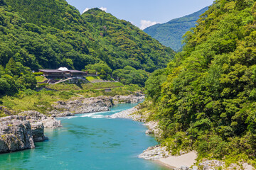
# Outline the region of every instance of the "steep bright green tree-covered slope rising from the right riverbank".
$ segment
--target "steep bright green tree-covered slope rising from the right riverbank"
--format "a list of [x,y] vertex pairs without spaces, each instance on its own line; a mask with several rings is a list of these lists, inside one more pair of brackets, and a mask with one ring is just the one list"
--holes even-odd
[[174,154],[196,149],[199,159],[255,166],[255,38],[254,0],[215,1],[183,51],[146,81],[160,140]]

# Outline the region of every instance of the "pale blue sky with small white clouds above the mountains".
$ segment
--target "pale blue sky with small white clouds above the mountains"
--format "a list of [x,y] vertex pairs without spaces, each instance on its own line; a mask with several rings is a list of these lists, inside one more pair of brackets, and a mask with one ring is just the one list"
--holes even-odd
[[102,8],[119,19],[133,23],[139,28],[154,23],[166,23],[210,6],[214,0],[67,0],[80,13],[86,8]]

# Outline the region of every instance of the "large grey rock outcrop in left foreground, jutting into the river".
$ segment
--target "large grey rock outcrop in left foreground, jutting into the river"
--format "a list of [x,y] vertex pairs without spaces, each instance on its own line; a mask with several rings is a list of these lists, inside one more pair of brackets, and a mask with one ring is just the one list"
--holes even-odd
[[61,127],[60,120],[36,111],[0,118],[0,153],[35,148],[34,142],[48,139],[44,128]]

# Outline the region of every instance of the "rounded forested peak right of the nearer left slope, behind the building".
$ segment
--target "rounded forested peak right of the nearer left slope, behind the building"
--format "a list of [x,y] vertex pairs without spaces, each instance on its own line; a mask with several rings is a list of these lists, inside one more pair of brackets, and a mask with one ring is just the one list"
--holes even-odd
[[[87,11],[82,17],[97,29],[100,46],[107,47],[108,57],[102,59],[107,63],[116,60],[118,64],[119,59],[123,57],[127,65],[153,72],[157,68],[166,67],[166,61],[174,54],[173,50],[164,47],[132,23],[119,20],[98,8]],[[118,51],[122,53],[117,53]],[[168,53],[170,55],[166,55]],[[138,60],[140,62],[137,62]]]

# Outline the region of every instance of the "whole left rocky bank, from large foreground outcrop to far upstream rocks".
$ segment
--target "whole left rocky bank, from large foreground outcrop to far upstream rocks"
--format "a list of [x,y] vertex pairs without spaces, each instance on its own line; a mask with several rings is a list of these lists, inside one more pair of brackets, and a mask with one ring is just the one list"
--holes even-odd
[[80,113],[110,111],[117,103],[139,103],[144,100],[142,94],[137,96],[99,96],[96,98],[78,98],[74,101],[58,101],[48,115],[37,111],[24,111],[18,115],[0,118],[0,154],[35,148],[35,142],[48,139],[44,128],[60,128],[60,120]]

